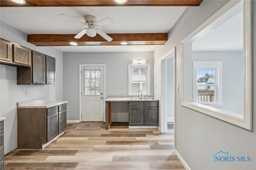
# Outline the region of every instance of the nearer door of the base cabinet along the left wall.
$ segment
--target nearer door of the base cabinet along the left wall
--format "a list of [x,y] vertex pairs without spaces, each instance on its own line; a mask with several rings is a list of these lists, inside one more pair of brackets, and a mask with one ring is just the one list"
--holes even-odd
[[58,113],[46,117],[47,124],[47,142],[58,135]]

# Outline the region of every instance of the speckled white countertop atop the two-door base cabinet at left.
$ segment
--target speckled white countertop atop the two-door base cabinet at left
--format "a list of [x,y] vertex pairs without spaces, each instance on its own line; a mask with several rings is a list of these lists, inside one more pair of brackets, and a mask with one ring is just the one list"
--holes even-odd
[[68,103],[68,101],[46,101],[46,99],[38,99],[19,102],[17,103],[17,108],[50,108],[65,103]]

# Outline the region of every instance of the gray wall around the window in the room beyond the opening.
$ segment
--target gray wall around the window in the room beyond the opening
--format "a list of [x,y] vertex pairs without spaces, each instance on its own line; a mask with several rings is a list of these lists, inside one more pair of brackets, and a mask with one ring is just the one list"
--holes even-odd
[[243,52],[192,52],[192,61],[223,61],[223,106],[214,106],[234,113],[243,113]]

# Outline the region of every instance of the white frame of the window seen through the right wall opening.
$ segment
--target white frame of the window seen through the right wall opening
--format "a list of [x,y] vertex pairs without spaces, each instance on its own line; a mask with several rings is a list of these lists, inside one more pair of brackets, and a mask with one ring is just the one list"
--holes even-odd
[[[223,106],[222,103],[222,63],[223,61],[192,61],[193,62],[193,102],[194,103],[199,103],[203,105],[208,105],[208,106]],[[215,89],[214,89],[214,96],[215,96],[215,101],[212,103],[206,103],[206,102],[197,102],[197,73],[196,69],[197,68],[214,68],[216,69],[216,75],[214,77],[215,81]]]

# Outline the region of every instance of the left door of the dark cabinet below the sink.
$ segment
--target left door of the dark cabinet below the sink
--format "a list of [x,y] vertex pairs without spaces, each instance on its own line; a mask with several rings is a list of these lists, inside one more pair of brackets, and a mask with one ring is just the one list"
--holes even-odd
[[129,125],[143,125],[144,113],[143,107],[130,107],[129,108]]

